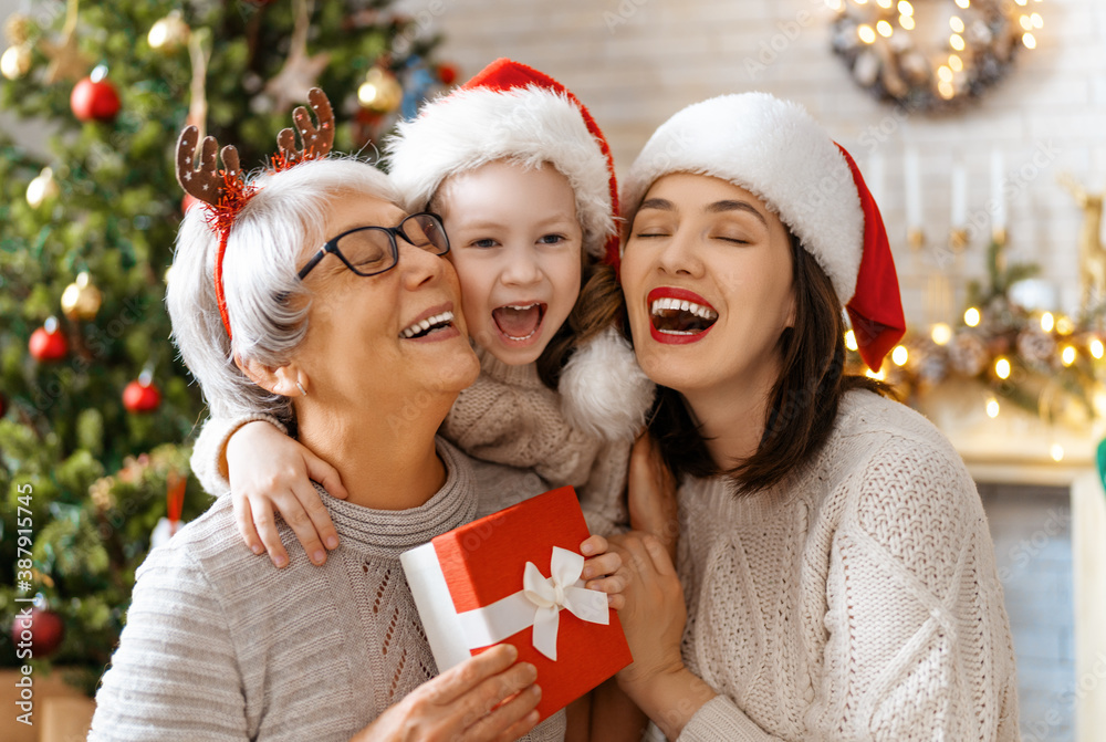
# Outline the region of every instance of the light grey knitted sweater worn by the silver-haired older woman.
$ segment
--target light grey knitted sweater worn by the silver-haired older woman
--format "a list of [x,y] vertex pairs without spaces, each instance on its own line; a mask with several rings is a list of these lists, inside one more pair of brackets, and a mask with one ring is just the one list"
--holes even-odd
[[[435,677],[400,553],[546,489],[531,472],[473,471],[440,439],[438,453],[446,484],[419,508],[371,510],[319,488],[342,540],[321,567],[296,548],[284,569],[251,554],[228,498],[152,551],[88,739],[344,741]],[[560,713],[524,739],[563,736]]]

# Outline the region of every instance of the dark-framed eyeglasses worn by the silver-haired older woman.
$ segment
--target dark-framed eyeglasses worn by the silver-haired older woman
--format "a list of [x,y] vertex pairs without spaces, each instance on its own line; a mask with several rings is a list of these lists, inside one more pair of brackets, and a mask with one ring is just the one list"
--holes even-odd
[[413,213],[398,227],[357,227],[342,232],[319,249],[319,252],[300,270],[302,281],[326,253],[338,258],[357,275],[378,275],[390,271],[399,262],[396,236],[435,255],[449,252],[449,238],[436,213]]

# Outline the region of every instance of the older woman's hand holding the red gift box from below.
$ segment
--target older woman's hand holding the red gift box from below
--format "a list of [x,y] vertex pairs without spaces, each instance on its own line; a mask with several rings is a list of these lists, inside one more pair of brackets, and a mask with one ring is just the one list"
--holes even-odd
[[499,645],[428,680],[351,742],[509,742],[538,723],[538,669]]

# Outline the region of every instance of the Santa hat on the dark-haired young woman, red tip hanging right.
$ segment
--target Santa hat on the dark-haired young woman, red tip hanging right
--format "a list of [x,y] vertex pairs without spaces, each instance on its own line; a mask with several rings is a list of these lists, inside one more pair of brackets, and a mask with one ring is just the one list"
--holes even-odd
[[625,213],[670,173],[713,176],[763,199],[830,276],[860,357],[879,368],[906,332],[887,230],[853,158],[801,105],[742,93],[684,108],[630,166]]

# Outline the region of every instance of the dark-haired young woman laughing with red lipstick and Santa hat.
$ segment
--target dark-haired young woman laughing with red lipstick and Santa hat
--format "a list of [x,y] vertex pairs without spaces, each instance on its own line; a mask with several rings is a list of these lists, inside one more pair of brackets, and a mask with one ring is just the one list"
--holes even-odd
[[878,209],[800,106],[664,124],[624,190],[622,285],[672,470],[674,566],[622,542],[619,684],[668,739],[1016,740],[1010,628],[949,442],[843,373],[902,332]]

